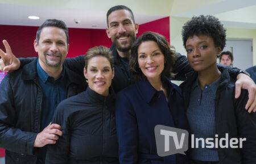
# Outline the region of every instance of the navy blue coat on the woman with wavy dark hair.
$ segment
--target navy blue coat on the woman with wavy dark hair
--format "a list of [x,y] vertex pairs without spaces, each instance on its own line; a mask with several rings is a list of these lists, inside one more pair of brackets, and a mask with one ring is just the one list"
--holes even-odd
[[166,80],[168,103],[146,78],[118,92],[115,120],[120,163],[187,163],[182,154],[159,157],[156,152],[156,125],[188,129],[181,90]]

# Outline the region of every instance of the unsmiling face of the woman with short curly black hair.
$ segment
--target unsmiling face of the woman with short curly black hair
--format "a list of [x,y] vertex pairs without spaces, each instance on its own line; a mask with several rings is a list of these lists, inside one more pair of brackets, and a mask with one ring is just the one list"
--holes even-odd
[[221,52],[220,47],[215,47],[212,37],[207,35],[194,35],[186,41],[188,62],[197,71],[207,71],[217,68],[217,56]]

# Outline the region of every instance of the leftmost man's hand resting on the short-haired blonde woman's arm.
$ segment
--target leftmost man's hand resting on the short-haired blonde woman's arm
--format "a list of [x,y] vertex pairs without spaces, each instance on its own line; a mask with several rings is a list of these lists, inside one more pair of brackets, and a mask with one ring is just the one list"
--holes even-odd
[[36,136],[34,147],[43,147],[47,144],[56,144],[56,140],[62,136],[61,127],[58,124],[49,124]]

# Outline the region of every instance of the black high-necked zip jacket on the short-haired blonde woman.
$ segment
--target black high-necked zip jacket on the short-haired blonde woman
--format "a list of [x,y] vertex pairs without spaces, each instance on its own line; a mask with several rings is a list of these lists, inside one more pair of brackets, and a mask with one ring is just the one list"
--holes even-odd
[[114,100],[114,91],[102,96],[90,87],[63,100],[52,120],[63,136],[48,145],[46,164],[119,163]]

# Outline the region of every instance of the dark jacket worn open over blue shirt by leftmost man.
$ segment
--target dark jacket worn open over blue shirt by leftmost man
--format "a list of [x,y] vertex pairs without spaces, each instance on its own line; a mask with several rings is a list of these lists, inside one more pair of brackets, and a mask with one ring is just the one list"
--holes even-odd
[[[34,164],[38,157],[38,148],[33,145],[40,131],[43,93],[36,73],[37,60],[7,74],[0,84],[0,147],[6,149],[6,164]],[[84,91],[84,79],[63,68],[68,77],[67,98]]]

